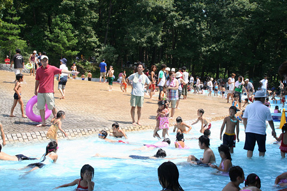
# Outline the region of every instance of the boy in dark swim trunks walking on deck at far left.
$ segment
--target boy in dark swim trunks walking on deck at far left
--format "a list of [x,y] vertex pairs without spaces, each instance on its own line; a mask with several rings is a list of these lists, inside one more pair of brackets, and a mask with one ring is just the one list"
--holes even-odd
[[11,107],[11,112],[9,117],[16,117],[15,115],[13,115],[13,111],[17,105],[17,102],[19,102],[20,106],[21,106],[21,113],[22,113],[22,117],[23,118],[27,118],[27,116],[24,114],[24,103],[23,103],[23,99],[21,98],[21,93],[22,93],[22,87],[21,87],[21,82],[23,82],[23,74],[17,74],[16,75],[16,84],[14,87],[14,102],[13,105]]

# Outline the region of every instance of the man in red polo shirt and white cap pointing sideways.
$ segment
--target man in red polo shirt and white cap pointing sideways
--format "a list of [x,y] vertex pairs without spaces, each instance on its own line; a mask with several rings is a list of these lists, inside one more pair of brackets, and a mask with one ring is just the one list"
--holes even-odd
[[[42,123],[37,127],[46,126],[45,121],[45,105],[47,103],[48,109],[52,110],[53,116],[56,117],[57,110],[54,99],[54,75],[59,73],[65,74],[79,74],[76,71],[62,70],[55,66],[48,64],[49,58],[46,55],[41,56],[42,66],[37,69],[35,82],[35,95],[37,96],[37,108],[40,110]],[[37,92],[39,87],[39,91]]]

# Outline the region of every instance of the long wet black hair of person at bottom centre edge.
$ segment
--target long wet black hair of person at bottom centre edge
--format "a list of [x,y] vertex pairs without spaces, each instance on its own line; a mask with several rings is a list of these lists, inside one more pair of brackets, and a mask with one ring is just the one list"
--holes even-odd
[[[179,171],[173,162],[164,162],[157,168],[157,176],[162,190],[184,191],[180,186]],[[165,185],[167,183],[167,185]]]

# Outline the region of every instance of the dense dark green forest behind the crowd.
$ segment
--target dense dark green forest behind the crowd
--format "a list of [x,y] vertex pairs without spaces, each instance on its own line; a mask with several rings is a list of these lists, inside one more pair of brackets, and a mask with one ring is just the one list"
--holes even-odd
[[142,61],[275,83],[287,60],[287,0],[0,0],[0,61],[16,48],[27,62],[33,50],[53,65],[95,58],[78,66],[96,76],[105,58],[116,74]]

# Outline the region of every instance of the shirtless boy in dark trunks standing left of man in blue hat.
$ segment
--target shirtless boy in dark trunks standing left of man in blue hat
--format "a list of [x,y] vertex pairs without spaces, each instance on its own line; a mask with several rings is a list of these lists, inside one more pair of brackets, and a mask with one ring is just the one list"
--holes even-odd
[[[222,140],[222,132],[226,125],[226,130],[223,135],[223,144],[229,146],[230,153],[233,153],[233,148],[235,147],[236,138],[237,142],[239,142],[239,120],[235,117],[237,113],[237,108],[235,106],[231,106],[229,108],[229,116],[224,118],[221,130],[220,130],[220,140]],[[235,135],[235,128],[236,134]]]

